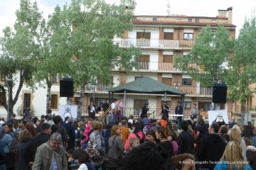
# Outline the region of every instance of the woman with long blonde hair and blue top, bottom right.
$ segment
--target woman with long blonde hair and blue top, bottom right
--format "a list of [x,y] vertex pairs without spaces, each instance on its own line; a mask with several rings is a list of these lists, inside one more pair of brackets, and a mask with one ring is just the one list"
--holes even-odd
[[220,158],[220,162],[215,165],[214,170],[252,170],[252,167],[245,162],[242,157],[242,147],[238,141],[228,142],[227,147]]

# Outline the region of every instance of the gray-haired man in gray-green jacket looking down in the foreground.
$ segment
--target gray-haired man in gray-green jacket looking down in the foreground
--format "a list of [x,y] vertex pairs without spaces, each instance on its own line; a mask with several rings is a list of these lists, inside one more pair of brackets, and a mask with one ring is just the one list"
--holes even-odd
[[35,161],[32,169],[56,169],[68,170],[68,162],[65,156],[65,148],[60,133],[54,132],[50,140],[37,148]]

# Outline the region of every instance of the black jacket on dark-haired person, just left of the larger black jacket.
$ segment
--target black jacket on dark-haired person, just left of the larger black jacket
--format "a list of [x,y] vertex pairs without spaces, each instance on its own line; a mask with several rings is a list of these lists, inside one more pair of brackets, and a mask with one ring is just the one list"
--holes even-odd
[[193,136],[188,132],[188,130],[184,130],[178,135],[178,154],[193,154]]

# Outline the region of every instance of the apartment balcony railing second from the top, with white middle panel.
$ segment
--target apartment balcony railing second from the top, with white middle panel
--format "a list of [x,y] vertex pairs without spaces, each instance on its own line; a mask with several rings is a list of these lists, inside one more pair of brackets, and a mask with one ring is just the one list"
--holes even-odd
[[[181,69],[174,68],[174,63],[171,62],[138,62],[140,70],[147,71],[181,71]],[[195,63],[189,63],[188,67],[199,69]]]

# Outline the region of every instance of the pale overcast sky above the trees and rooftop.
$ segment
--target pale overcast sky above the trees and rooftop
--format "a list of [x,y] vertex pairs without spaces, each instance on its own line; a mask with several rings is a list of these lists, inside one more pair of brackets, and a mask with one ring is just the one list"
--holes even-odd
[[[33,0],[31,0],[33,1]],[[109,3],[117,0],[105,0]],[[237,26],[236,36],[245,17],[252,16],[255,11],[255,0],[176,0],[170,1],[170,13],[181,14],[186,16],[218,16],[219,9],[227,9],[233,6],[233,24]],[[167,15],[168,0],[136,0],[137,7],[134,15]],[[53,12],[53,8],[59,4],[63,6],[65,3],[70,3],[70,0],[38,0],[38,6],[43,11],[44,16],[47,17],[49,13]],[[18,9],[19,0],[0,0],[0,29],[6,26],[13,26],[16,16],[15,11]],[[2,32],[2,31],[1,31]],[[2,33],[0,33],[0,36]]]

